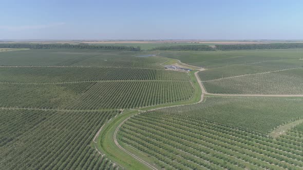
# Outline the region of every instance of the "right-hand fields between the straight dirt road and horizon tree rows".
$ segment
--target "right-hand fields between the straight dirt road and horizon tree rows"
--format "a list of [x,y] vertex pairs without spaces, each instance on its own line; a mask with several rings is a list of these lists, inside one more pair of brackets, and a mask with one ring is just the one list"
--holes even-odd
[[302,49],[161,52],[158,55],[205,68],[199,77],[208,93],[303,94],[300,87]]

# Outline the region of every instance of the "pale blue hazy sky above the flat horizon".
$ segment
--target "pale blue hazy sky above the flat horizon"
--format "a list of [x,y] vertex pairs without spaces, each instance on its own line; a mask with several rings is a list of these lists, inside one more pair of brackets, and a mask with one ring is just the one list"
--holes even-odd
[[303,1],[0,1],[0,39],[303,39]]

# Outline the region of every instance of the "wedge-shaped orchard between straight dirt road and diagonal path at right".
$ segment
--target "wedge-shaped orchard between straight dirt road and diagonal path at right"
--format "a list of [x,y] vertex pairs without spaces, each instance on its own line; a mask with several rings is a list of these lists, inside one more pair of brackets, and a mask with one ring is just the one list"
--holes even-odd
[[303,69],[203,81],[209,93],[303,94]]

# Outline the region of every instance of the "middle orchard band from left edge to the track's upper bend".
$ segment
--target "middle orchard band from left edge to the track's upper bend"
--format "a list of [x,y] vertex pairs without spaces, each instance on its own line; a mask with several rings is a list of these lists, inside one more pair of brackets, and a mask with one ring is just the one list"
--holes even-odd
[[188,100],[190,81],[105,81],[64,84],[0,84],[0,107],[123,109]]

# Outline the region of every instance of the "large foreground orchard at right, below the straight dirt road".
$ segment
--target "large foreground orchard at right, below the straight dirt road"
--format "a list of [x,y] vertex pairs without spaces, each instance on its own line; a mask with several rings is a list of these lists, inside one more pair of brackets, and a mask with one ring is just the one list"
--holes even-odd
[[302,119],[302,101],[207,95],[131,117],[118,140],[164,169],[301,169],[302,125],[275,139],[268,133]]

